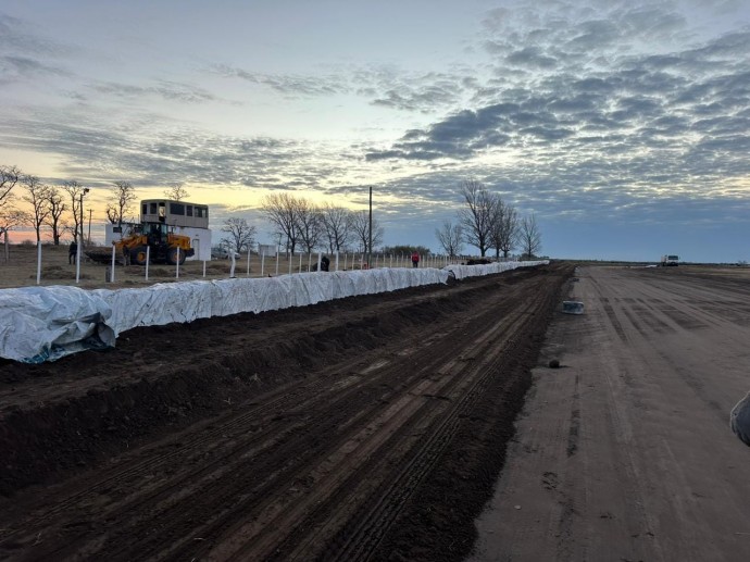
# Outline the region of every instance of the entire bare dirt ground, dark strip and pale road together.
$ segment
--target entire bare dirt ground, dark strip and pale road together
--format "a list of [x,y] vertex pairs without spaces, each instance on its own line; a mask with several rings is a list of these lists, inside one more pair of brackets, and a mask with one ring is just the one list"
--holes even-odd
[[749,280],[552,263],[0,360],[0,559],[747,559]]

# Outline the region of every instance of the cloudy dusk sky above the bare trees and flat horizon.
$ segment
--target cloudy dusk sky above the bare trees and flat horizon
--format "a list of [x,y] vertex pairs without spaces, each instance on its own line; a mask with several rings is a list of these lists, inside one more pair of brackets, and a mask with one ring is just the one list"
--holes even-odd
[[438,251],[473,179],[545,255],[750,260],[750,1],[2,0],[0,164],[95,223],[182,184],[266,242],[264,196],[372,186]]

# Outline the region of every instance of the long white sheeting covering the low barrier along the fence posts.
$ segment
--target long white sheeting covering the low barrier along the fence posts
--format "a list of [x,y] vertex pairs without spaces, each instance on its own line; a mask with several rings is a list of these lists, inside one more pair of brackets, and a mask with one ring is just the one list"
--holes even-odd
[[97,347],[118,334],[197,319],[263,312],[357,295],[490,275],[548,262],[450,265],[442,270],[376,268],[263,278],[166,283],[138,289],[26,287],[0,290],[0,357],[39,363]]

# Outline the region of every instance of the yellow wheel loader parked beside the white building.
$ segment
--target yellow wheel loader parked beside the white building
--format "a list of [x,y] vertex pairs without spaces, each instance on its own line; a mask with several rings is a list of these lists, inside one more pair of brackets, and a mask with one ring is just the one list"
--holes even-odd
[[126,238],[114,242],[115,251],[124,262],[146,264],[147,249],[151,263],[182,265],[186,258],[196,253],[190,247],[190,237],[168,232],[164,223],[141,223]]

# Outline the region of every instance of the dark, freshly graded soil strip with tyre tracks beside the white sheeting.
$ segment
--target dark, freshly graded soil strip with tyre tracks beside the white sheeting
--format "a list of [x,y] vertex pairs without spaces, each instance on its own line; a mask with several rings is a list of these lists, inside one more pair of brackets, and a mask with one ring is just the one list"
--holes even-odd
[[461,560],[571,266],[0,363],[0,559]]

